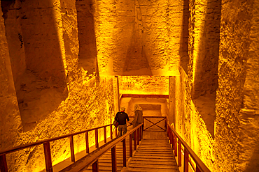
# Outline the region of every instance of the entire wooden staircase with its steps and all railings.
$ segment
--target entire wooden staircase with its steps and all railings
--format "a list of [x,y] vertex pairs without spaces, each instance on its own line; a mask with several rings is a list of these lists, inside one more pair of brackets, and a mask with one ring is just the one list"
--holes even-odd
[[[155,118],[157,118],[156,121]],[[162,120],[160,118],[162,118]],[[113,124],[110,124],[5,150],[0,153],[0,171],[8,172],[6,155],[25,148],[43,145],[46,166],[44,171],[48,172],[53,172],[54,170],[66,172],[174,172],[179,171],[178,166],[183,167],[183,171],[186,172],[188,172],[189,169],[195,169],[196,172],[210,172],[207,166],[194,153],[188,144],[181,138],[181,136],[179,136],[174,128],[169,125],[166,117],[146,116],[144,119],[146,119],[145,121],[148,121],[150,124],[146,122],[141,123],[132,130],[129,130],[127,134],[117,139],[114,139],[115,136],[113,136]],[[165,121],[165,123],[161,123],[162,121]],[[153,126],[156,128],[151,128]],[[111,138],[107,138],[107,127],[110,127],[108,132],[111,132]],[[98,142],[99,130],[104,130],[104,145],[101,145],[101,142]],[[88,132],[91,131],[95,132],[95,146],[92,146],[95,148],[94,150],[89,146]],[[73,136],[78,134],[85,134],[86,140],[86,150],[84,151],[84,155],[80,158],[76,157],[73,150]],[[139,141],[142,136],[144,139]],[[57,170],[57,168],[55,169],[55,166],[52,166],[50,142],[66,138],[69,138],[70,140],[71,158],[65,159],[63,162],[56,164],[56,167],[57,165],[59,165],[59,167],[62,166],[62,168]],[[135,140],[132,141],[132,139]],[[130,148],[130,145],[132,148]],[[177,157],[178,165],[176,164],[174,156]],[[189,163],[190,159],[193,159],[192,163]]]

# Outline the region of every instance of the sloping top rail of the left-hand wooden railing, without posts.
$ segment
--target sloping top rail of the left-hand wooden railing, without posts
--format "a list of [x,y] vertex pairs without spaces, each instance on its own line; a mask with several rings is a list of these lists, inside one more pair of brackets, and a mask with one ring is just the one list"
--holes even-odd
[[89,130],[75,132],[73,134],[66,134],[66,135],[63,135],[63,136],[57,136],[57,137],[54,137],[54,138],[51,138],[51,139],[45,139],[43,141],[36,141],[34,143],[28,143],[28,144],[18,146],[18,147],[15,147],[15,148],[10,148],[8,150],[4,150],[4,151],[0,152],[0,156],[4,155],[4,154],[8,154],[8,153],[13,153],[15,151],[22,150],[22,149],[25,149],[25,148],[30,148],[32,146],[38,146],[38,145],[41,145],[43,143],[47,143],[47,142],[50,142],[50,141],[56,141],[56,140],[59,140],[59,139],[64,139],[64,138],[69,137],[69,136],[75,136],[75,135],[78,135],[78,134],[83,134],[85,132],[90,132],[92,130],[96,130],[96,129],[99,129],[99,128],[102,128],[102,127],[108,127],[108,126],[111,126],[111,125],[113,125],[113,124],[104,125],[104,126],[101,126],[101,127],[95,127],[95,128],[89,129]]

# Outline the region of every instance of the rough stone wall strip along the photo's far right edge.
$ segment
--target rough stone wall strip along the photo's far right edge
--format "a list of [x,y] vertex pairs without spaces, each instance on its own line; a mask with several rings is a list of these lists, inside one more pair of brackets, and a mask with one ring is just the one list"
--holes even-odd
[[[251,4],[248,5],[251,7]],[[258,64],[259,64],[259,2],[253,1],[251,10],[251,44],[246,63],[246,81],[244,84],[244,109],[240,111],[240,137],[238,149],[246,150],[239,153],[237,171],[259,171],[259,101],[258,101]],[[255,170],[256,169],[256,170]]]

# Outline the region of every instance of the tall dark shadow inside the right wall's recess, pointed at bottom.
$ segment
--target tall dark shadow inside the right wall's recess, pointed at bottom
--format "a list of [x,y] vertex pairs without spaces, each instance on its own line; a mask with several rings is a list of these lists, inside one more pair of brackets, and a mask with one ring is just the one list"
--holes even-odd
[[[218,88],[218,54],[221,26],[221,0],[207,2],[203,33],[200,33],[200,45],[197,49],[195,79],[192,99],[202,115],[211,136],[214,138],[214,120],[216,120],[216,89]],[[197,21],[197,23],[202,21]]]

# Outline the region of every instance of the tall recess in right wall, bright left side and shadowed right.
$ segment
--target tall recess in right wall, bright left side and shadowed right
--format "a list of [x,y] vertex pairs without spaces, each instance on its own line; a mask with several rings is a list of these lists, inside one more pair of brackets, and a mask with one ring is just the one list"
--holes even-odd
[[192,82],[192,100],[202,114],[211,136],[214,136],[221,1],[190,1],[189,6],[188,72]]

